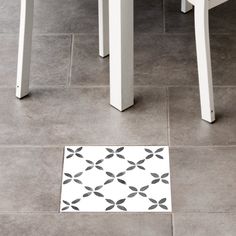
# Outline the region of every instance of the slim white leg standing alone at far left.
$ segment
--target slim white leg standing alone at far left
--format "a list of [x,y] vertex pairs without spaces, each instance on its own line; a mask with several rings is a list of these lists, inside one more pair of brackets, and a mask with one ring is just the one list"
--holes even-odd
[[21,0],[16,97],[29,93],[34,0]]

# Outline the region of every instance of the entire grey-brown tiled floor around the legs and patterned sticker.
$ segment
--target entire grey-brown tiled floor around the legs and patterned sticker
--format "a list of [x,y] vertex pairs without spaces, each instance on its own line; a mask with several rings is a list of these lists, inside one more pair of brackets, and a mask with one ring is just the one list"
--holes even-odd
[[[31,94],[14,96],[19,3],[0,0],[0,235],[236,234],[236,2],[210,12],[217,121],[200,119],[193,14],[135,0],[135,100],[108,105],[96,0],[35,0]],[[59,214],[64,145],[169,145],[172,214]]]

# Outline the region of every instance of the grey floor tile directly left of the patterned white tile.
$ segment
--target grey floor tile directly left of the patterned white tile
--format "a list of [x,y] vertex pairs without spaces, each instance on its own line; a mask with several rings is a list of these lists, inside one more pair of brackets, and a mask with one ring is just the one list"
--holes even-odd
[[0,148],[0,212],[58,211],[62,158],[63,148]]

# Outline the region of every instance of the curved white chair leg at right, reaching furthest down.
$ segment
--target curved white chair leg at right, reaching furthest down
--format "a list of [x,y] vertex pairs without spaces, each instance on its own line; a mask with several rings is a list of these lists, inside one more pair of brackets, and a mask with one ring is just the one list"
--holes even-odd
[[209,39],[208,0],[195,1],[195,37],[202,119],[215,121]]

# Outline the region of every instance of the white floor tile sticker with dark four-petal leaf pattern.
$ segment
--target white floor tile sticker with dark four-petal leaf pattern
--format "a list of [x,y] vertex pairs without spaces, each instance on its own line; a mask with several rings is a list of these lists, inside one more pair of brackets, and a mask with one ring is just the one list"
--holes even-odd
[[60,209],[170,212],[168,147],[65,147]]

